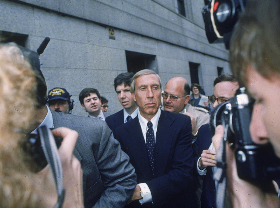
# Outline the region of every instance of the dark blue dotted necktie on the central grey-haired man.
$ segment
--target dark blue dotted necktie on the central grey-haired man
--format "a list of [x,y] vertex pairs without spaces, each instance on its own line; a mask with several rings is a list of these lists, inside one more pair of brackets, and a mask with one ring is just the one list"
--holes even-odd
[[150,161],[150,166],[152,169],[153,177],[155,178],[155,160],[154,160],[154,151],[155,151],[155,134],[153,130],[152,122],[148,122],[148,131],[146,133],[146,148],[148,152],[148,157]]

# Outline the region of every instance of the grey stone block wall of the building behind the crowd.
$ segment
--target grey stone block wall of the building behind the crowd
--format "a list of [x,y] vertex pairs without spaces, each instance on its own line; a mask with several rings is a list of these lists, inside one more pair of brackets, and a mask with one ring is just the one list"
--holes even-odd
[[[201,85],[212,94],[217,67],[230,73],[223,44],[209,44],[203,29],[203,0],[186,1],[187,18],[175,13],[174,0],[23,0],[0,1],[0,30],[28,34],[27,47],[50,42],[40,56],[48,89],[64,87],[75,100],[75,115],[87,115],[78,94],[85,87],[121,109],[113,79],[127,72],[125,51],[153,54],[163,83],[174,76],[190,80],[188,62],[200,63]],[[115,40],[108,27],[114,27]]]

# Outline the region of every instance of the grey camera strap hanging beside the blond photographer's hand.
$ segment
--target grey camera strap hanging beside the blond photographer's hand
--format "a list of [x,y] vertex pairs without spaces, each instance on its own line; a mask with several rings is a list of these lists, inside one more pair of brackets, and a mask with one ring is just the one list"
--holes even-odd
[[64,202],[65,189],[63,188],[63,174],[62,165],[55,143],[55,138],[52,132],[46,126],[41,126],[37,129],[38,133],[41,135],[41,144],[50,169],[53,173],[53,178],[55,180],[55,186],[57,191],[57,202],[53,208],[61,208]]

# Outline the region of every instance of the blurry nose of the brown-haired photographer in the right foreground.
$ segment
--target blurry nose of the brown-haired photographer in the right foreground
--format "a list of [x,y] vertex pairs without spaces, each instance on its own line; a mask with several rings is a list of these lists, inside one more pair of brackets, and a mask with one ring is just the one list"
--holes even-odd
[[268,133],[262,118],[262,111],[262,105],[255,104],[250,123],[250,134],[252,140],[257,144],[265,144],[269,141]]

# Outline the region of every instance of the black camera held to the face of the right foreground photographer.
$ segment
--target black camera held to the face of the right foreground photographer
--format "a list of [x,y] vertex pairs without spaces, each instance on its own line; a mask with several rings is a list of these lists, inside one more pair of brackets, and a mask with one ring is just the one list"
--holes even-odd
[[210,126],[225,128],[227,141],[236,146],[235,157],[238,176],[247,181],[266,181],[280,178],[280,159],[272,145],[258,145],[252,141],[249,126],[253,102],[241,87],[230,102],[221,103],[211,114]]

